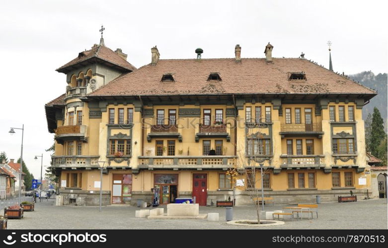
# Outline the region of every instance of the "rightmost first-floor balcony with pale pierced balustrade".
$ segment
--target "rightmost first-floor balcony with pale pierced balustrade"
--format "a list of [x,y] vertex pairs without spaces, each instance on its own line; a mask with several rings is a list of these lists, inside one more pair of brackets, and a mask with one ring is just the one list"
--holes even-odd
[[313,169],[325,167],[324,155],[281,155],[281,168]]

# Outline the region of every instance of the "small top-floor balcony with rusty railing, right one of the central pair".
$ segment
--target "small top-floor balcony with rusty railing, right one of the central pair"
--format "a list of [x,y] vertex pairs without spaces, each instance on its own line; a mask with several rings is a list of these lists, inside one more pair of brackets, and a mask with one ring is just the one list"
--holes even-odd
[[197,124],[196,126],[195,141],[199,142],[199,138],[227,138],[227,141],[231,141],[231,125],[228,124],[215,124],[204,125]]

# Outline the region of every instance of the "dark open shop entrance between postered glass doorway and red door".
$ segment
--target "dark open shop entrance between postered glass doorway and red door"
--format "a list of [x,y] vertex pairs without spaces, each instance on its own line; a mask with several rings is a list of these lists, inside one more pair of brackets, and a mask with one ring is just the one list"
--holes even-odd
[[155,188],[159,188],[160,204],[173,203],[178,197],[178,174],[155,174]]

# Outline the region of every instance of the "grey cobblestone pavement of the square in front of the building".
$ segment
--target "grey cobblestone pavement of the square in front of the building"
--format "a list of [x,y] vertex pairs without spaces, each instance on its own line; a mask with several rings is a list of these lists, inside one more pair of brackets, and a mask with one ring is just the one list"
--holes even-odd
[[[284,205],[265,206],[266,211],[282,210]],[[149,220],[135,218],[132,206],[98,207],[55,206],[55,200],[35,203],[35,211],[25,212],[21,220],[8,220],[8,229],[248,229],[231,226],[225,221],[225,208],[200,207],[200,213],[219,213],[220,221]],[[148,208],[151,209],[151,208]],[[166,212],[166,210],[165,210]],[[263,214],[265,217],[265,214]],[[254,206],[233,207],[233,220],[255,219]],[[387,229],[387,200],[330,202],[318,205],[318,219],[291,221],[285,225],[254,229]]]

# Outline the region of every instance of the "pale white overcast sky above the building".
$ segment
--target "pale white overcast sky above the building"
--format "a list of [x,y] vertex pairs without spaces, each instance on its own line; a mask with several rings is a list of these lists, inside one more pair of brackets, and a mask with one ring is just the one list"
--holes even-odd
[[[328,67],[332,42],[334,71],[387,72],[387,1],[4,1],[0,7],[0,151],[23,158],[35,178],[40,160],[49,165],[54,134],[48,132],[44,104],[65,93],[66,76],[56,68],[99,42],[121,48],[136,67],[160,59],[263,58],[268,42],[273,57],[306,58]],[[386,24],[384,24],[386,23]]]

